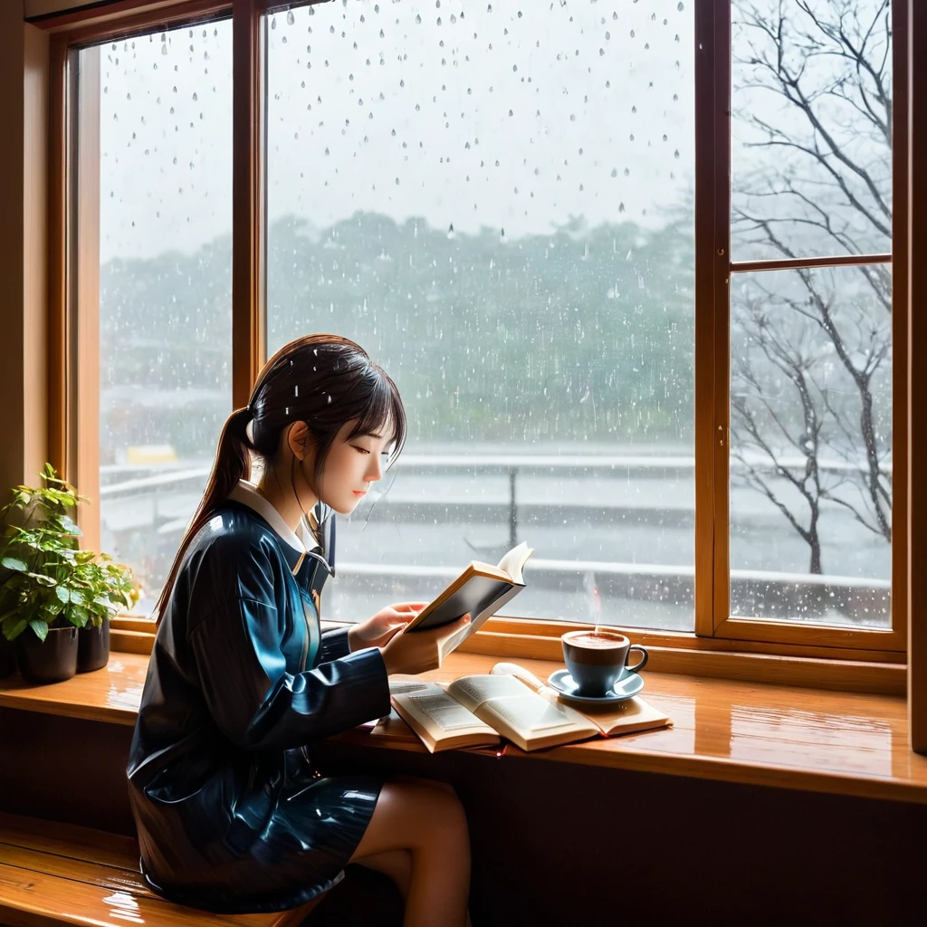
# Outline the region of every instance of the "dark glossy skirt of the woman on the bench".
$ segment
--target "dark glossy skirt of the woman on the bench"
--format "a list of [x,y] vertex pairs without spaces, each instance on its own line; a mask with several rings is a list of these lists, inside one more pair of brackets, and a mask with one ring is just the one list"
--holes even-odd
[[[192,816],[182,812],[176,820],[179,829],[165,829],[173,815],[164,806],[133,801],[142,872],[153,891],[191,908],[221,914],[298,908],[340,881],[382,785],[366,776],[307,772],[275,792],[269,817],[260,799],[222,811],[222,796],[213,793],[218,801],[211,813],[197,801],[198,810],[186,809]],[[197,798],[209,791],[200,790]],[[146,827],[147,820],[154,826]]]

